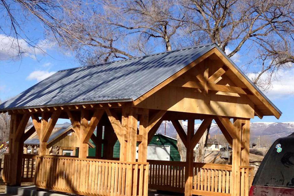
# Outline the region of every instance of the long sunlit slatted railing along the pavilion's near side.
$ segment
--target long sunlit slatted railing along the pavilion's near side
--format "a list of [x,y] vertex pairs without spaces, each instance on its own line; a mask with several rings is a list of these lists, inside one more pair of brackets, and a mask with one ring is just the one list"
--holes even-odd
[[79,195],[147,196],[148,172],[148,163],[37,156],[35,183]]

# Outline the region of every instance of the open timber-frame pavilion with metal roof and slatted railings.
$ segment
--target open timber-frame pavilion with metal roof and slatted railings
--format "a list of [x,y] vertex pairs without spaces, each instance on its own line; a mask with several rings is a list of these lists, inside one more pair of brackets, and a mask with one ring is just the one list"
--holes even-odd
[[[216,44],[61,70],[1,104],[0,111],[11,115],[7,185],[22,182],[23,141],[31,133],[24,130],[31,117],[40,140],[37,188],[89,196],[147,196],[148,187],[186,196],[248,195],[250,119],[281,116]],[[78,158],[46,155],[58,118],[70,119]],[[196,119],[203,122],[194,130]],[[232,165],[193,162],[193,149],[213,119],[233,147]],[[176,128],[186,162],[147,161],[148,142],[162,120]],[[187,133],[178,120],[188,120]],[[109,127],[104,138],[103,126]],[[103,143],[109,156],[97,150],[88,159],[90,138],[97,149]],[[117,140],[120,159],[113,160]]]

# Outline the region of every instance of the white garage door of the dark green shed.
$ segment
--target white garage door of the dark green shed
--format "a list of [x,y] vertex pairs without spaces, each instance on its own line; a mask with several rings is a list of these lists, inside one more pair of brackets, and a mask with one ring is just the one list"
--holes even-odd
[[[169,161],[170,160],[170,146],[148,145],[147,147],[147,159]],[[136,153],[136,159],[138,159],[138,147]]]

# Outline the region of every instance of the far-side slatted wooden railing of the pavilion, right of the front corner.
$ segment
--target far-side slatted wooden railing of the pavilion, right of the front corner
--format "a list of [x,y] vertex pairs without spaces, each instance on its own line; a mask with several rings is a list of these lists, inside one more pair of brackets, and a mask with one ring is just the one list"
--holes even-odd
[[[181,192],[185,190],[186,162],[148,161],[149,188]],[[240,166],[240,196],[248,196],[253,167]],[[232,165],[193,163],[193,195],[230,196]]]

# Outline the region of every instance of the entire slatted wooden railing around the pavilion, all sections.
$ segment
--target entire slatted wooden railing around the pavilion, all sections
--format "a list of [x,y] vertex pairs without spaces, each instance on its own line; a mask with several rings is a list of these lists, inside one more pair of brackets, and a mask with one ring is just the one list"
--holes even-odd
[[[9,179],[9,156],[4,154],[4,182]],[[148,162],[149,164],[24,154],[22,182],[31,182],[36,174],[35,183],[38,188],[91,196],[147,196],[148,187],[184,192],[186,162]],[[239,168],[240,196],[248,196],[254,168]],[[193,163],[192,194],[230,196],[231,173],[231,165]]]

